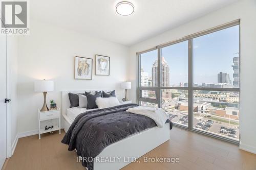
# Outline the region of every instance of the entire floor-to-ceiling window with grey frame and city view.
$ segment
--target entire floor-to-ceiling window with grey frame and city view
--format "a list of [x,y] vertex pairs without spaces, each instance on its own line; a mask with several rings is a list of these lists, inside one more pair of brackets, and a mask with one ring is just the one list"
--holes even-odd
[[163,108],[175,125],[239,141],[239,37],[236,20],[138,53],[139,104]]

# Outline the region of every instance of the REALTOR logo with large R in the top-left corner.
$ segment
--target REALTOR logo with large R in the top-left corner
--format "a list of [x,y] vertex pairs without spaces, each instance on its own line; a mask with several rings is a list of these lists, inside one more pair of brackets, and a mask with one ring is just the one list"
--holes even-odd
[[1,34],[28,34],[28,2],[1,2]]

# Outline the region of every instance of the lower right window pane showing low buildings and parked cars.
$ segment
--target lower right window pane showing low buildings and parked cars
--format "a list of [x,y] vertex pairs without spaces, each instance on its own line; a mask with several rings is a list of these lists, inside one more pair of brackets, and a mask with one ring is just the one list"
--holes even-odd
[[[199,96],[203,96],[203,98]],[[238,113],[239,92],[194,90],[193,127],[195,129],[226,138],[238,139]]]

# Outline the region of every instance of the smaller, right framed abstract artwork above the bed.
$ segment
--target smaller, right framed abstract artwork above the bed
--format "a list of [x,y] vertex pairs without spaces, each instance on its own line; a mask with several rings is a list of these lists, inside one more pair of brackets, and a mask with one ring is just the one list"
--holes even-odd
[[95,75],[109,76],[110,75],[110,57],[95,56]]

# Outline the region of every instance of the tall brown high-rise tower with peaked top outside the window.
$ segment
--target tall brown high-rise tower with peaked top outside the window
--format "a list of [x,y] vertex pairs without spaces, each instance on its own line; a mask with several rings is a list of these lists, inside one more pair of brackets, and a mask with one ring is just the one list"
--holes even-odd
[[[158,66],[158,61],[156,60],[153,63],[152,66],[152,85],[157,86],[157,66]],[[169,75],[170,75],[170,69],[165,61],[165,59],[162,57],[162,87],[168,87],[169,86]],[[163,89],[162,90],[162,98],[165,100],[172,99],[172,92],[169,89]]]

